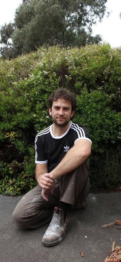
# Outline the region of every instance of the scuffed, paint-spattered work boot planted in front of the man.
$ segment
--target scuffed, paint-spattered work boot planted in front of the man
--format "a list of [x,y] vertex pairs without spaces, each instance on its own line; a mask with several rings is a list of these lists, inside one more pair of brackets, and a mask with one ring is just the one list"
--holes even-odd
[[54,246],[61,242],[65,236],[65,231],[67,230],[68,219],[64,221],[64,211],[60,208],[54,208],[54,214],[47,228],[42,243],[45,246]]

